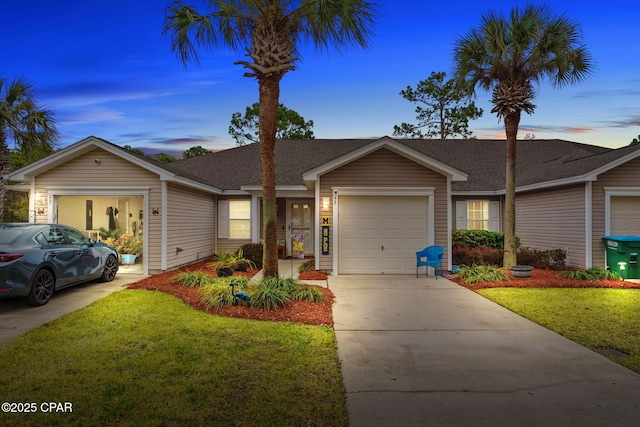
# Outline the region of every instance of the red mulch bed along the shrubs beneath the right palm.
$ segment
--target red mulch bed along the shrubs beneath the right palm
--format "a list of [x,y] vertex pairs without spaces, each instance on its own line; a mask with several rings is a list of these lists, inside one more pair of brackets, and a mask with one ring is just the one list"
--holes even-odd
[[600,280],[591,282],[586,280],[565,279],[558,276],[555,270],[534,269],[531,277],[512,277],[504,282],[474,283],[466,285],[455,275],[446,275],[452,280],[472,291],[487,288],[617,288],[617,289],[640,289],[640,283],[624,282],[621,280]]

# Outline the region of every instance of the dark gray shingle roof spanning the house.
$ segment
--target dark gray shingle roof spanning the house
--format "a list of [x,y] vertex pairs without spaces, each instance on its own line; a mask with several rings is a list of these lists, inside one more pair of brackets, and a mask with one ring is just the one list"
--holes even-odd
[[[377,140],[278,141],[277,185],[304,185],[303,173]],[[396,141],[467,173],[468,180],[454,183],[454,191],[495,192],[504,189],[504,140]],[[640,146],[610,149],[557,139],[519,141],[516,185],[527,186],[580,177],[634,152],[640,155]],[[261,182],[258,144],[167,163],[163,167],[184,178],[223,190],[240,190],[243,186],[259,186]]]

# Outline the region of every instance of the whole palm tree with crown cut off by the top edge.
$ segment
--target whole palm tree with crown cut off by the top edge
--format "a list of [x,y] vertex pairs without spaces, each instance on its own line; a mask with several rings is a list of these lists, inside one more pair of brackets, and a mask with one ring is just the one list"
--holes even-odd
[[207,13],[174,1],[167,8],[163,33],[183,65],[199,62],[196,46],[240,48],[248,60],[236,64],[258,80],[259,138],[262,167],[263,274],[278,276],[276,238],[275,141],[280,80],[294,70],[298,44],[318,48],[354,44],[366,47],[375,5],[362,0],[208,0]]

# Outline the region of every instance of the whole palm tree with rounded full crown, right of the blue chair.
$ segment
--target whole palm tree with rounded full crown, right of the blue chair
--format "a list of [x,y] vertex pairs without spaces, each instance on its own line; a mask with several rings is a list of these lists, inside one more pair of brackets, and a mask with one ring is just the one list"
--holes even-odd
[[507,138],[504,266],[516,264],[515,164],[520,114],[536,106],[534,83],[548,79],[555,87],[582,81],[592,59],[579,25],[547,6],[514,8],[509,17],[488,12],[481,24],[456,40],[455,78],[473,94],[492,90],[491,110],[504,119]]

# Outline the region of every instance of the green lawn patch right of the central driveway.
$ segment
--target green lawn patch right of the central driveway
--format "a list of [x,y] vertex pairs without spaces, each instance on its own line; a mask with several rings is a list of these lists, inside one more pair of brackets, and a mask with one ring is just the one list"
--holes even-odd
[[494,288],[480,295],[640,373],[640,290]]

